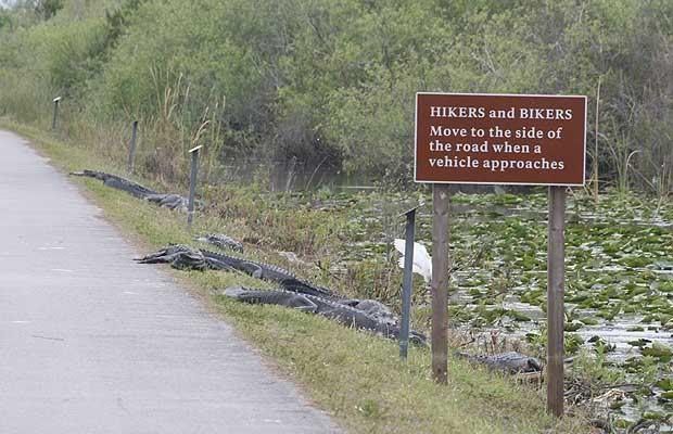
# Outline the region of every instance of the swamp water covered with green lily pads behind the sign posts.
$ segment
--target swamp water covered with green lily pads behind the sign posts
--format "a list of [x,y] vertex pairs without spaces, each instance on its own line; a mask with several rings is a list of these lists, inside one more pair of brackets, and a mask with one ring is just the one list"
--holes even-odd
[[[366,196],[344,202],[359,235],[342,258],[344,267],[395,263],[390,244],[403,238],[397,214],[409,203],[394,194]],[[419,200],[431,203],[428,195]],[[544,356],[546,209],[544,193],[452,197],[454,329],[491,341],[525,341]],[[607,404],[618,426],[645,418],[659,421],[660,432],[673,432],[673,204],[618,194],[595,204],[572,194],[566,216],[567,356],[580,352],[610,371],[594,373],[606,383],[604,392],[622,385],[615,387],[620,398]],[[431,205],[417,221],[416,239],[431,252]],[[429,297],[422,280],[415,283],[418,320],[429,311]]]

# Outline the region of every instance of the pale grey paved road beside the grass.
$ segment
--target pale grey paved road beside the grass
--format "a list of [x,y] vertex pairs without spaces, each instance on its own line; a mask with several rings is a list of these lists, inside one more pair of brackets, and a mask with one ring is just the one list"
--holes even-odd
[[231,328],[0,131],[0,433],[330,433]]

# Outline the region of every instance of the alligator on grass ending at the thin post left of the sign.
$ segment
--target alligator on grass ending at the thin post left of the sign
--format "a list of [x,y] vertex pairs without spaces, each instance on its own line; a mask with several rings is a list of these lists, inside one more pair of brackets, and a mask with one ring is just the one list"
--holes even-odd
[[[294,308],[305,312],[320,315],[341,324],[358,330],[367,330],[388,339],[399,339],[399,327],[388,321],[381,321],[364,310],[356,309],[331,298],[300,294],[284,289],[259,290],[244,286],[230,286],[221,294],[239,302],[250,304],[278,305]],[[422,333],[410,331],[409,342],[426,345]]]

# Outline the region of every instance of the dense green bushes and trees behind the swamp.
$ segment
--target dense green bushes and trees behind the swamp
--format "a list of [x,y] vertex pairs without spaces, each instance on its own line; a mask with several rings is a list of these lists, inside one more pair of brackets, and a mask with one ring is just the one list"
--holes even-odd
[[220,162],[408,179],[416,91],[587,94],[604,186],[665,194],[672,17],[669,0],[24,1],[0,12],[0,115],[47,125],[63,94],[71,135],[141,118],[164,177],[152,152],[199,138]]

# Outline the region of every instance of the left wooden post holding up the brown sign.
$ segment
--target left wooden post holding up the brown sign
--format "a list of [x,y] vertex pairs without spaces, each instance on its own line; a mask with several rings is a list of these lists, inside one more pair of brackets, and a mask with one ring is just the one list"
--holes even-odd
[[432,184],[432,376],[446,383],[448,358],[448,186]]

